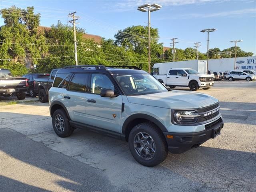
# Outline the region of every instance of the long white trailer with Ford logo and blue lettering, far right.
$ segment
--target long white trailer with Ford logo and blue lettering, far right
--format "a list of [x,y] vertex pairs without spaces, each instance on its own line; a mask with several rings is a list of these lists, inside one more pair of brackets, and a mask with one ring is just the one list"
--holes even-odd
[[210,71],[232,71],[234,70],[256,70],[256,56],[254,57],[238,57],[236,58],[223,58],[223,59],[210,59],[208,70]]

